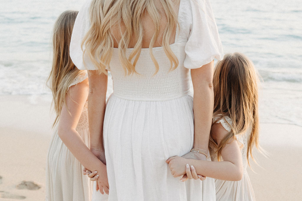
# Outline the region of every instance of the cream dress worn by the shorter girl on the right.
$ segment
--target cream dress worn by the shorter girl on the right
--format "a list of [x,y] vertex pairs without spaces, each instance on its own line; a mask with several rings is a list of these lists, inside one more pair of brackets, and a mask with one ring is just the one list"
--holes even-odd
[[[229,117],[224,117],[226,121],[232,125],[232,120]],[[218,119],[218,118],[217,118]],[[217,119],[214,119],[216,121]],[[229,124],[226,123],[224,119],[217,121],[221,123],[221,125],[227,130],[231,131]],[[251,134],[251,129],[247,130],[246,133],[242,135],[235,135],[238,145],[242,154],[242,162],[243,162],[243,177],[240,181],[223,181],[219,179],[215,179],[215,187],[216,187],[216,200],[217,201],[254,201],[255,195],[252,188],[252,184],[249,180],[249,175],[246,172],[246,168],[248,166],[247,162],[247,145],[249,136]],[[212,161],[217,160],[217,144],[210,137],[210,154]],[[222,159],[221,159],[222,160]]]

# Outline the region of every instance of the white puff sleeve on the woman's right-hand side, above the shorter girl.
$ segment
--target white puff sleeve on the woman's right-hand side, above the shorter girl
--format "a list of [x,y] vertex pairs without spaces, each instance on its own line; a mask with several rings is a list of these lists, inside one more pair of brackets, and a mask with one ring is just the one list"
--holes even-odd
[[185,45],[185,68],[199,68],[223,58],[222,44],[209,0],[190,0],[192,22]]

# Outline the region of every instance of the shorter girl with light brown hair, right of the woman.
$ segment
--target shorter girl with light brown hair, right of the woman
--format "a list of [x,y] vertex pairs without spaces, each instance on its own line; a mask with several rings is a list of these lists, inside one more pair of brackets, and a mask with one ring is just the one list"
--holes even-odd
[[[215,178],[216,200],[255,200],[246,168],[259,147],[258,75],[241,53],[227,54],[214,71],[214,112],[210,132],[213,162],[171,157],[174,176]],[[260,149],[261,150],[261,149]]]

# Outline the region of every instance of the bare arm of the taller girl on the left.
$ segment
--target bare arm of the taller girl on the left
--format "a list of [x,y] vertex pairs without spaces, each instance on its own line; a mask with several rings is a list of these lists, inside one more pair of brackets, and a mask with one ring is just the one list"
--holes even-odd
[[[102,181],[107,181],[107,183],[105,182],[102,186],[109,187],[106,165],[104,165],[88,149],[79,133],[76,131],[76,126],[87,100],[88,90],[88,79],[69,88],[69,95],[66,94],[66,105],[68,110],[66,105],[63,105],[61,115],[59,117],[58,135],[70,152],[72,152],[76,159],[78,159],[85,168],[97,171],[99,177],[102,178]],[[100,187],[101,192],[102,190],[103,188]]]

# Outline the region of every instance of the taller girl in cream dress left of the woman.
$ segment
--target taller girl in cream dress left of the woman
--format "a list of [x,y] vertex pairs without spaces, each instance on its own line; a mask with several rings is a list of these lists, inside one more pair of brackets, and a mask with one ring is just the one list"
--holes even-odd
[[[82,175],[87,161],[99,163],[90,152],[87,71],[76,68],[69,56],[72,28],[78,11],[65,11],[53,29],[53,65],[48,77],[53,93],[55,132],[46,165],[46,200],[90,201],[92,183]],[[93,168],[89,166],[88,168]],[[94,176],[96,172],[91,173]]]

